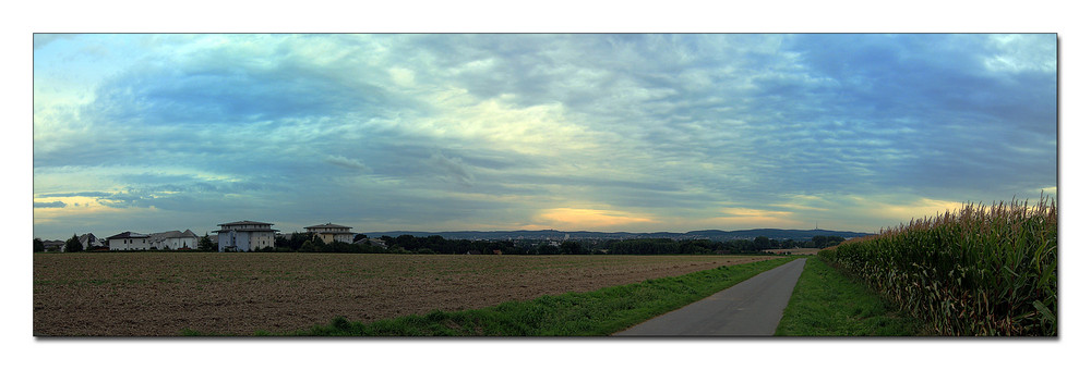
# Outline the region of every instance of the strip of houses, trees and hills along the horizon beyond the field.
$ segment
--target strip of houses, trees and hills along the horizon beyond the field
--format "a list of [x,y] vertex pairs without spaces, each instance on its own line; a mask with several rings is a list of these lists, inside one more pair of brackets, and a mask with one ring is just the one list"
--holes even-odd
[[[626,250],[636,254],[662,252],[745,252],[776,248],[816,248],[866,233],[828,230],[753,229],[742,231],[705,230],[686,233],[564,232],[541,231],[461,231],[461,232],[371,232],[356,233],[351,226],[323,223],[304,227],[305,232],[283,234],[273,223],[235,221],[217,224],[209,236],[191,230],[158,233],[125,231],[105,238],[93,233],[73,234],[67,240],[35,238],[35,251],[355,251],[355,252],[465,252],[465,254],[609,254]],[[371,235],[373,237],[369,237]],[[377,236],[377,237],[375,237]],[[461,240],[464,243],[453,243]],[[616,243],[631,240],[626,243]],[[644,242],[639,242],[644,240]],[[660,240],[658,244],[655,240]],[[637,246],[638,245],[638,246]],[[649,247],[650,245],[650,247]],[[564,248],[562,248],[564,247]]]

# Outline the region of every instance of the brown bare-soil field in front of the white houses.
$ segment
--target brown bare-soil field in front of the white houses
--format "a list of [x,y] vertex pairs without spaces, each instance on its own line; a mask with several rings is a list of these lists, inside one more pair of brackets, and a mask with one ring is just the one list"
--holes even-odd
[[252,335],[464,310],[758,256],[34,254],[34,335]]

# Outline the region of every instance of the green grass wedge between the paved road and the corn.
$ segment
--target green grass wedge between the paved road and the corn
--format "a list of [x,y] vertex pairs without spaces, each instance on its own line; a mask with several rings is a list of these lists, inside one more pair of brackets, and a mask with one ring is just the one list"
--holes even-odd
[[920,335],[921,323],[819,258],[807,260],[775,335]]

